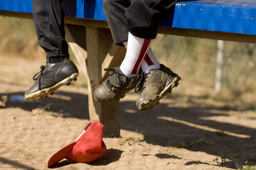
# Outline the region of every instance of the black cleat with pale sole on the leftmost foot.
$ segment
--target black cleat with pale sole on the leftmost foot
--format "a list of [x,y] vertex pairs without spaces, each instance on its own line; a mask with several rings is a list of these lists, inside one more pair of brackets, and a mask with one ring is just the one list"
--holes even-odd
[[58,63],[46,62],[45,66],[41,66],[40,72],[34,75],[35,83],[24,96],[26,100],[33,101],[48,97],[61,86],[76,81],[78,75],[76,65],[68,58]]

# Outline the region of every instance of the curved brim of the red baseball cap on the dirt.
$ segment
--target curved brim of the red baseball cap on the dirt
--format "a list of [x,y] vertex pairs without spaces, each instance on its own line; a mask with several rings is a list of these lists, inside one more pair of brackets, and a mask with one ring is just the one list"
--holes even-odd
[[51,156],[51,158],[49,158],[47,167],[51,167],[54,164],[57,164],[58,162],[60,162],[60,160],[62,160],[63,158],[65,158],[68,155],[68,152],[73,148],[75,144],[76,142],[70,143],[67,146],[63,147],[61,150],[54,153]]

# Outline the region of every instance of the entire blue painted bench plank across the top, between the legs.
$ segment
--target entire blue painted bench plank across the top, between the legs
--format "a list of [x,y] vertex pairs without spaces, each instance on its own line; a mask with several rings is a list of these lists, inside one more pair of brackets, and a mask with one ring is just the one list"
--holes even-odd
[[[68,17],[106,20],[102,0],[66,0]],[[32,12],[32,0],[0,0],[0,10]],[[194,0],[176,3],[161,26],[256,35],[256,0]]]

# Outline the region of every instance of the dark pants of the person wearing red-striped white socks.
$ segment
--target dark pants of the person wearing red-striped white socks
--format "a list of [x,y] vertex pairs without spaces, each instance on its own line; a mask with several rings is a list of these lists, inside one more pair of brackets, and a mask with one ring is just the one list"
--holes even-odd
[[128,31],[154,39],[159,17],[171,12],[177,0],[104,0],[104,13],[116,45],[127,42]]

